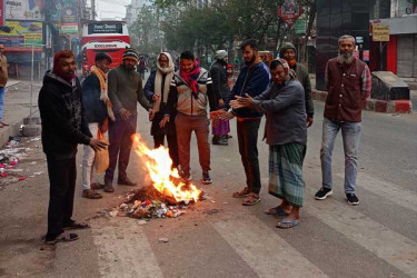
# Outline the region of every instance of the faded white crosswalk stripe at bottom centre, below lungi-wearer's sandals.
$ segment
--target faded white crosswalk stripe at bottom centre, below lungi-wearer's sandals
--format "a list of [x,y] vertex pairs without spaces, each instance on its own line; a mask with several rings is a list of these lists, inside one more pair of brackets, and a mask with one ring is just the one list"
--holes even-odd
[[259,277],[327,277],[254,216],[219,220],[212,226]]

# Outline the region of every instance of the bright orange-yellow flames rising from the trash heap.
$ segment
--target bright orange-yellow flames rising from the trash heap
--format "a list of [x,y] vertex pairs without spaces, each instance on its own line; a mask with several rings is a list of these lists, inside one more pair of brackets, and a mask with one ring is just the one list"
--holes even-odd
[[165,196],[173,197],[176,201],[198,201],[201,195],[193,183],[186,185],[180,181],[178,169],[171,168],[172,160],[169,151],[163,146],[149,149],[140,140],[140,135],[133,135],[133,150],[145,161],[146,169],[152,186]]

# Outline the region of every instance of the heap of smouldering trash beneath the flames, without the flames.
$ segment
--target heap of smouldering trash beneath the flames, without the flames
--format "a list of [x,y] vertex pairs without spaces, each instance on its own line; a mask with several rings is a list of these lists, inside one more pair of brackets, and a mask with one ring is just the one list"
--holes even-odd
[[[201,200],[205,197],[201,195]],[[193,202],[193,201],[192,201]],[[167,197],[157,191],[152,186],[130,191],[119,206],[121,216],[148,220],[151,218],[177,218],[183,215],[190,201],[177,202],[172,197]]]

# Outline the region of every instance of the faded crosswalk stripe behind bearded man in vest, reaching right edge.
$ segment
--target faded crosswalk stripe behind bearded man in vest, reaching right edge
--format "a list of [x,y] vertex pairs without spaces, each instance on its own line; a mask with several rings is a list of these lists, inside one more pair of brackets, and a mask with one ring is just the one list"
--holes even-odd
[[[342,173],[336,173],[336,176],[341,179],[345,178],[345,175]],[[356,183],[360,186],[360,188],[371,193],[386,198],[398,206],[417,212],[417,195],[410,190],[403,189],[380,179],[376,179],[364,172],[358,172]]]

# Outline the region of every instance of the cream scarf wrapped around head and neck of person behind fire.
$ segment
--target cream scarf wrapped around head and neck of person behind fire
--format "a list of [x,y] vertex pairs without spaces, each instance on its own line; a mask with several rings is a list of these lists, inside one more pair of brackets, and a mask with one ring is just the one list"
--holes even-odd
[[[161,66],[159,64],[159,58],[161,54],[165,54],[168,58],[169,60],[168,68],[161,68]],[[152,106],[153,113],[159,111],[161,101],[163,103],[167,103],[168,95],[169,95],[169,87],[171,86],[171,80],[173,78],[175,66],[172,62],[172,58],[168,52],[162,52],[158,56],[157,68],[158,70],[157,70],[157,75],[155,77],[155,83],[153,83],[155,85],[153,93],[156,96],[160,97],[162,95],[162,88],[161,88],[162,77],[166,76],[166,78],[165,78],[165,83],[163,83],[163,99],[158,98],[158,100],[153,102],[153,106]]]

